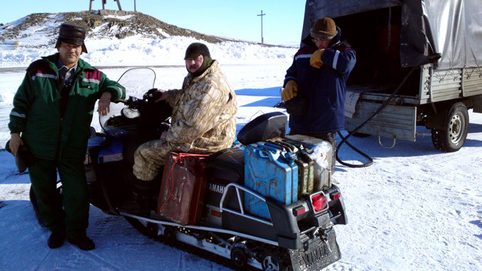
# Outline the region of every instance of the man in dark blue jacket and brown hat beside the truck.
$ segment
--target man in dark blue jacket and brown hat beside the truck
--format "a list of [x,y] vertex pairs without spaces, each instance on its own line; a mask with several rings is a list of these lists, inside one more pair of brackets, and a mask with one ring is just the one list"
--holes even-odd
[[[331,18],[318,19],[306,45],[295,54],[293,64],[286,70],[282,99],[295,96],[305,102],[302,112],[291,114],[291,134],[310,135],[331,142],[332,170],[335,169],[336,132],[344,129],[346,80],[355,66],[355,51],[340,41],[342,30]],[[286,103],[287,108],[289,102]]]

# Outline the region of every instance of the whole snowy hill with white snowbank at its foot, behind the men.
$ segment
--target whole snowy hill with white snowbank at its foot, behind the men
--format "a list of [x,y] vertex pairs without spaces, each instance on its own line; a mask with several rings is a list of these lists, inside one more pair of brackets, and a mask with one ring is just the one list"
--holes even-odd
[[87,30],[88,54],[96,66],[184,65],[189,43],[207,43],[222,64],[289,63],[295,48],[260,45],[209,36],[169,25],[140,12],[65,12],[30,14],[0,26],[0,68],[26,67],[39,56],[56,52],[61,23]]

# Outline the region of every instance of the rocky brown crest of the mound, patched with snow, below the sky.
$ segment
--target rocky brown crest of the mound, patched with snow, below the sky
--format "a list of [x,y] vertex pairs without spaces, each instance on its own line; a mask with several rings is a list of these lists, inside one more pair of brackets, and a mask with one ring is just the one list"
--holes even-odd
[[[209,43],[230,41],[209,36],[185,28],[178,28],[140,12],[119,10],[97,10],[62,13],[34,13],[21,20],[0,26],[0,41],[28,37],[31,32],[44,32],[50,37],[48,45],[54,45],[61,23],[79,25],[87,30],[87,37],[124,39],[140,34],[151,39],[165,39],[167,36],[191,36]],[[33,30],[34,29],[34,30]]]

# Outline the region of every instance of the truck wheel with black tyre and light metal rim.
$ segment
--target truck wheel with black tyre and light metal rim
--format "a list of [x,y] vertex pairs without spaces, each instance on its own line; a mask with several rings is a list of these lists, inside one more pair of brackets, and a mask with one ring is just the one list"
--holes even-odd
[[432,143],[435,149],[452,153],[463,146],[469,129],[469,113],[463,102],[450,107],[446,129],[432,129]]

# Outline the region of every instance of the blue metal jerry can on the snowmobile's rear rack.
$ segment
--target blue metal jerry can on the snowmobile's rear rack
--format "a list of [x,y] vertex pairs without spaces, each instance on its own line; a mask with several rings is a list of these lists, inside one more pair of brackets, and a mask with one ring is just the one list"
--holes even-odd
[[[280,204],[296,202],[298,168],[293,156],[262,142],[248,145],[244,151],[244,186]],[[250,215],[271,219],[266,203],[249,193],[244,193],[244,209]]]

